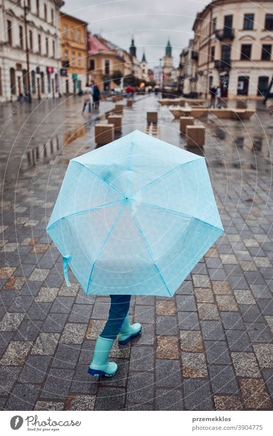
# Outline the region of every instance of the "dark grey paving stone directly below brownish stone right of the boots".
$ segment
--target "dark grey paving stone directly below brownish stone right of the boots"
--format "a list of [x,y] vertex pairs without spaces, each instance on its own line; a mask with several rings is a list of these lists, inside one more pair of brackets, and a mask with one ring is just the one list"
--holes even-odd
[[156,384],[164,387],[181,387],[181,368],[179,361],[156,359]]

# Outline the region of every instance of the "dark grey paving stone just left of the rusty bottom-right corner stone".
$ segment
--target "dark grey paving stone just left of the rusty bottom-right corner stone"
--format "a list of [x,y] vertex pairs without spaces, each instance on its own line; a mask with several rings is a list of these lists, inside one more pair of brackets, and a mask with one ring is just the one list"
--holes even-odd
[[214,393],[238,393],[238,386],[232,367],[211,365],[209,366],[208,371]]

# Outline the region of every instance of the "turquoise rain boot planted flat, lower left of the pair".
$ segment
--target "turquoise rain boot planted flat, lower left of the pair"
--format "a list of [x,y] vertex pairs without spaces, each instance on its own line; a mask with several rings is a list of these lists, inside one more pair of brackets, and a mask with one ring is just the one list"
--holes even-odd
[[95,377],[106,375],[112,377],[117,372],[117,364],[115,362],[108,362],[110,350],[114,344],[115,339],[107,339],[98,336],[94,349],[93,360],[88,368],[88,372]]

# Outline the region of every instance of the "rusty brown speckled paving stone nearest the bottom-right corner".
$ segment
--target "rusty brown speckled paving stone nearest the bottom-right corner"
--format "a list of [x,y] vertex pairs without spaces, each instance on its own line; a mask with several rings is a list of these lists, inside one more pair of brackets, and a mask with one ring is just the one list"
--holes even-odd
[[270,398],[263,380],[241,378],[239,383],[246,408],[266,409],[271,407]]

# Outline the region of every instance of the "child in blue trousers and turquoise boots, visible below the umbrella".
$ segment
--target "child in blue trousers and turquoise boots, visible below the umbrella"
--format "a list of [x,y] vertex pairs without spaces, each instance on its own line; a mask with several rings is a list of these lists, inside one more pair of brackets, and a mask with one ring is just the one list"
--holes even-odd
[[129,307],[131,295],[110,295],[110,298],[111,306],[108,321],[97,338],[93,360],[88,369],[89,374],[97,377],[101,375],[111,377],[117,372],[117,364],[108,361],[109,353],[117,335],[119,344],[124,345],[141,332],[141,324],[130,325]]

